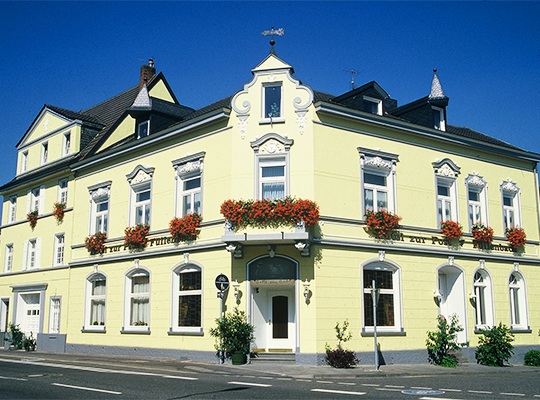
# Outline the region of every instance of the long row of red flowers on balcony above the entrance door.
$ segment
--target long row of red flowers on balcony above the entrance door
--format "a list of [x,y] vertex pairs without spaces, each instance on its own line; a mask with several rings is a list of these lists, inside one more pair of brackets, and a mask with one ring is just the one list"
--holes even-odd
[[248,226],[296,226],[301,221],[306,226],[313,226],[319,221],[319,206],[314,201],[293,197],[277,200],[226,200],[221,205],[221,214],[235,230]]

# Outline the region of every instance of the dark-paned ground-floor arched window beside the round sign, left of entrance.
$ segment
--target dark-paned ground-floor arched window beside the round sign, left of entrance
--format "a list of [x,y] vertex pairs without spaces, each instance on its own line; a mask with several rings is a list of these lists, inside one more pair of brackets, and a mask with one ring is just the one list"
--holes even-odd
[[177,267],[172,274],[171,332],[202,333],[202,269]]

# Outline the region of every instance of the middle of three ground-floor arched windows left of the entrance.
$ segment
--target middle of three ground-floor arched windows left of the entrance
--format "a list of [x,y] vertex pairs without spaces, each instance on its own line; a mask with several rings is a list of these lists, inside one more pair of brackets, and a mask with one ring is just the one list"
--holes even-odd
[[150,272],[135,267],[126,274],[124,298],[125,332],[148,332],[150,325]]

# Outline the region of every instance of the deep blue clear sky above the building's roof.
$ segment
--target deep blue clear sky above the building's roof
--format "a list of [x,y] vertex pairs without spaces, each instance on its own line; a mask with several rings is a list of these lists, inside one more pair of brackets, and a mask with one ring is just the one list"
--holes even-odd
[[377,81],[398,105],[438,69],[448,123],[540,153],[539,2],[0,1],[0,183],[45,103],[78,111],[136,84],[155,59],[180,103],[234,94],[270,50],[315,90]]

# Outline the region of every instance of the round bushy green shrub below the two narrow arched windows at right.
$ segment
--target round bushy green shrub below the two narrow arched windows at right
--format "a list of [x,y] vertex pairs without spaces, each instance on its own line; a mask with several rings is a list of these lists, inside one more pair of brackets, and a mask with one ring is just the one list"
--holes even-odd
[[481,332],[482,336],[476,349],[476,362],[491,367],[503,367],[514,354],[512,345],[514,334],[502,322],[499,326]]

